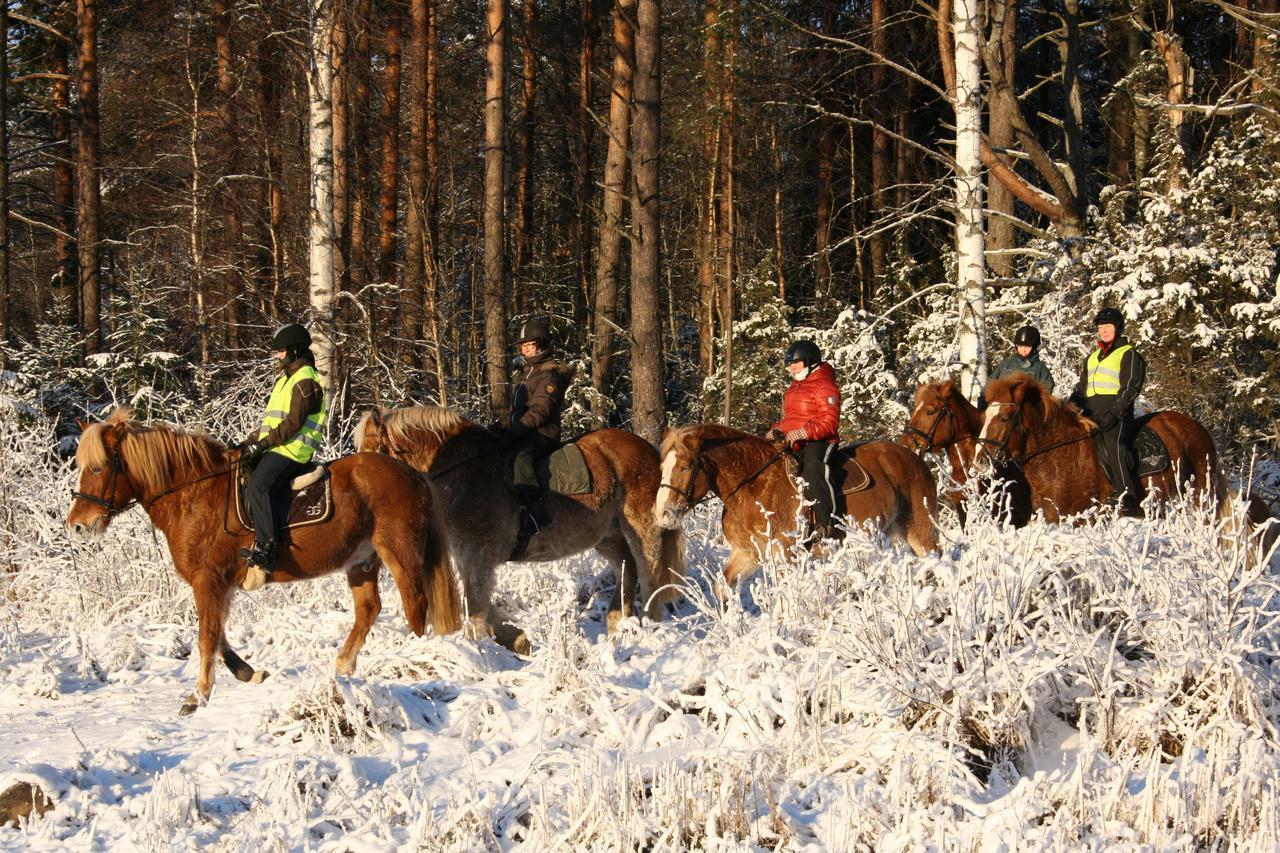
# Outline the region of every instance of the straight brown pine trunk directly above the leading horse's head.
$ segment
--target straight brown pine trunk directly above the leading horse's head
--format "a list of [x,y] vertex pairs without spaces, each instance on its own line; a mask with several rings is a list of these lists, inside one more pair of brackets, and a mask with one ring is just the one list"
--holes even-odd
[[79,36],[79,156],[76,160],[81,330],[88,353],[102,351],[99,291],[97,0],[76,0]]

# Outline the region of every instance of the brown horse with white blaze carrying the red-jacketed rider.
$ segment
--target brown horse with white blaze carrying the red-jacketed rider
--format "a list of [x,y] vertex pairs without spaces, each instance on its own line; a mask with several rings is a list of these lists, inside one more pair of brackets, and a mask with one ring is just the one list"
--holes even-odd
[[[852,455],[870,483],[845,494],[849,519],[873,523],[918,555],[936,551],[937,492],[928,466],[890,442],[858,444]],[[796,542],[791,528],[801,498],[783,460],[771,442],[730,426],[671,429],[662,442],[662,492],[654,515],[663,526],[675,528],[708,493],[719,496],[724,502],[721,523],[731,549],[724,580],[732,587],[759,567],[771,547],[787,553]]]

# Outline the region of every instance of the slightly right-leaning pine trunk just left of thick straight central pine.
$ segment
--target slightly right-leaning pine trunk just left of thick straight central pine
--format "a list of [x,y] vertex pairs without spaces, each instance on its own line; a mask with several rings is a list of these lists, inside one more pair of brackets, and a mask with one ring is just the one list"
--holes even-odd
[[[589,1],[589,0],[584,0]],[[609,141],[604,155],[604,196],[600,205],[600,251],[595,266],[595,309],[591,334],[591,387],[600,394],[595,414],[609,409],[609,370],[617,323],[618,268],[626,224],[627,147],[631,132],[631,79],[635,67],[635,0],[614,0],[613,74],[609,86]]]

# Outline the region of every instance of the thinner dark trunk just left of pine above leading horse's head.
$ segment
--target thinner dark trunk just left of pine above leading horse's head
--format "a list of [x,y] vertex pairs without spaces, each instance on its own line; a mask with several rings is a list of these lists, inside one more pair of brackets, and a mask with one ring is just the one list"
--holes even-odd
[[79,289],[76,238],[76,154],[72,151],[70,59],[68,44],[54,40],[54,79],[51,85],[54,105],[54,298],[67,311],[72,325],[79,325]]

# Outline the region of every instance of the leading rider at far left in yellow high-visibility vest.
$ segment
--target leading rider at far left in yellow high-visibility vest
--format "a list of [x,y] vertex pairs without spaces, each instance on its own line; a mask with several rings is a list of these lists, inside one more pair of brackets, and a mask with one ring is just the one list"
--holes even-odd
[[251,571],[246,589],[266,583],[275,569],[279,556],[275,532],[280,521],[275,515],[275,498],[307,469],[324,441],[325,394],[311,355],[311,334],[305,327],[289,323],[271,338],[271,350],[280,377],[266,401],[262,424],[255,435],[232,448],[241,452],[242,460],[261,455],[244,488],[244,502],[253,523],[253,547],[241,549],[244,564],[257,567],[261,575]]

